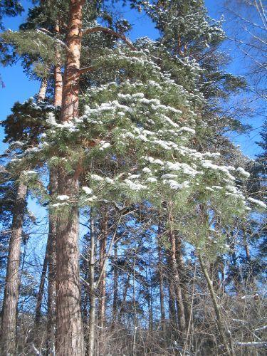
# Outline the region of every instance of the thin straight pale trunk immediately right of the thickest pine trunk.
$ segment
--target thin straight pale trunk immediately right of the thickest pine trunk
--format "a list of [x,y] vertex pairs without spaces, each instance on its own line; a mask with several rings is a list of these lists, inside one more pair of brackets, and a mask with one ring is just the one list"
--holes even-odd
[[88,356],[94,355],[95,350],[95,216],[91,210],[90,218],[90,309],[89,309],[89,339],[88,339]]

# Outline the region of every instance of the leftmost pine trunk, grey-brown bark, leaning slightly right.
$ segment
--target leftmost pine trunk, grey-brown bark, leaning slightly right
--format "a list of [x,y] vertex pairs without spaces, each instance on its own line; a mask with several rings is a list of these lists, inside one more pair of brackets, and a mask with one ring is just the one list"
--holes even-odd
[[1,323],[1,348],[3,355],[16,355],[16,309],[19,299],[19,262],[26,194],[26,185],[23,184],[23,182],[19,182],[14,205],[9,241],[9,256],[6,267],[6,283]]

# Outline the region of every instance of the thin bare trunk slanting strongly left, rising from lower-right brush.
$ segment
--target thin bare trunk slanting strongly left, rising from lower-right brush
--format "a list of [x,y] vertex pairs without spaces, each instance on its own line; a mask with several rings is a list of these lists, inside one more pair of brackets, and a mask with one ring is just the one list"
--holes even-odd
[[[208,273],[208,271],[206,269],[206,266],[204,264],[202,256],[199,254],[198,257],[199,257],[199,264],[200,264],[200,267],[201,267],[201,271],[205,276],[206,283],[207,283],[208,288],[209,288],[209,294],[211,295],[211,300],[212,300],[212,303],[214,305],[214,312],[215,312],[215,315],[216,315],[216,325],[217,325],[217,328],[219,330],[219,334],[221,336],[221,340],[224,343],[224,347],[226,349],[227,355],[234,356],[235,355],[234,349],[233,349],[232,346],[229,347],[229,344],[227,342],[227,336],[226,336],[227,332],[226,332],[226,330],[224,328],[223,321],[221,320],[221,311],[220,311],[220,308],[219,308],[219,304],[217,303],[217,298],[216,298],[216,293],[215,293],[215,290],[214,290],[213,283],[211,281],[211,278],[209,278],[209,273]],[[229,341],[230,341],[230,345],[231,345],[231,340],[229,340]]]

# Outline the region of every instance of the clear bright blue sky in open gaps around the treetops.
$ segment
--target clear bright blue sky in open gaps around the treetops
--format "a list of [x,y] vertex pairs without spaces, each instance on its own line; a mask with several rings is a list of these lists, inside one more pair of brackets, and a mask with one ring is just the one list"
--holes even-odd
[[[215,19],[219,19],[219,16],[222,12],[221,10],[222,0],[206,0],[206,6],[208,8],[209,14]],[[28,6],[31,6],[31,1],[22,0],[21,1],[24,9],[21,16],[16,18],[6,18],[4,25],[6,28],[11,28],[16,30],[19,27],[20,23],[23,23],[26,20]],[[144,14],[139,14],[137,11],[130,11],[129,9],[122,9],[123,16],[130,21],[133,25],[133,31],[130,33],[132,39],[148,36],[150,38],[157,38],[157,31],[153,28],[152,23],[144,16]],[[228,50],[232,51],[233,48],[229,47]],[[232,53],[229,53],[233,55]],[[235,55],[235,53],[234,53]],[[232,63],[229,65],[229,71],[233,74],[240,74],[240,69],[242,68],[241,58],[233,58]],[[4,120],[6,115],[9,115],[12,105],[16,101],[23,102],[29,97],[36,94],[39,88],[39,83],[36,80],[29,80],[26,75],[23,73],[23,69],[20,66],[20,63],[12,67],[6,67],[0,69],[1,77],[4,80],[5,88],[0,88],[0,120]],[[259,140],[258,132],[263,122],[263,117],[253,117],[253,120],[247,120],[246,122],[253,125],[253,132],[250,135],[238,135],[233,134],[231,138],[236,142],[236,144],[241,145],[242,151],[253,157],[260,149],[258,145],[255,144],[255,141]],[[3,139],[3,130],[0,129],[0,140]],[[4,144],[1,142],[0,150],[4,149]]]

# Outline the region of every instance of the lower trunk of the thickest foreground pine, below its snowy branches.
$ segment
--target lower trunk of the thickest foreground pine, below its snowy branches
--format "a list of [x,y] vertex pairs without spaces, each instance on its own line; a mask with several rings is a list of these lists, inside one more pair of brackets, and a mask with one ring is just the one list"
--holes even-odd
[[[78,182],[60,172],[58,193],[78,194]],[[78,208],[69,206],[58,217],[56,241],[56,353],[84,355],[80,311],[80,271],[78,250]]]

